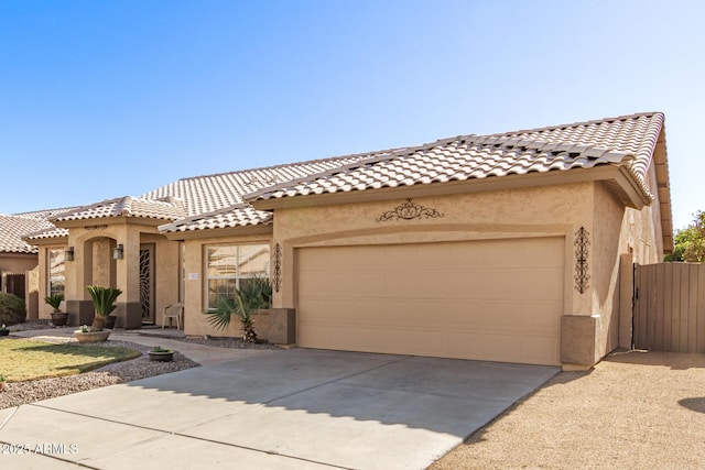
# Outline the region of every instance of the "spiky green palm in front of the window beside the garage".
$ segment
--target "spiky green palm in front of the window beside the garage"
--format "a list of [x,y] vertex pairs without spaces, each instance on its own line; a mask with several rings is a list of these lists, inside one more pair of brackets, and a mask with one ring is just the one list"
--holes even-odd
[[242,341],[257,342],[252,314],[261,308],[269,308],[271,297],[272,284],[269,278],[253,277],[235,292],[235,298],[220,298],[218,307],[205,314],[209,316],[210,325],[219,330],[227,329],[232,315],[237,315],[242,327]]

